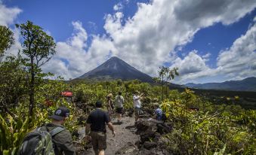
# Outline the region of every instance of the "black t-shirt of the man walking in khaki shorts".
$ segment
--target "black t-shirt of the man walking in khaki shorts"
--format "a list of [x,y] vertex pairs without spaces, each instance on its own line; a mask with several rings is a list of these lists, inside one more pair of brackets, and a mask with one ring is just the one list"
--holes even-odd
[[110,122],[109,114],[97,108],[89,114],[86,123],[91,124],[91,131],[106,132],[106,123]]

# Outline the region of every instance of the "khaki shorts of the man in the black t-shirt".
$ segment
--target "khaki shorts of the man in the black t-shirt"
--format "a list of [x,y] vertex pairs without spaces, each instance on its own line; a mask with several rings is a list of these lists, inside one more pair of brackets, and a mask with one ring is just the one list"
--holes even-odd
[[106,149],[106,133],[91,131],[91,143],[94,150]]

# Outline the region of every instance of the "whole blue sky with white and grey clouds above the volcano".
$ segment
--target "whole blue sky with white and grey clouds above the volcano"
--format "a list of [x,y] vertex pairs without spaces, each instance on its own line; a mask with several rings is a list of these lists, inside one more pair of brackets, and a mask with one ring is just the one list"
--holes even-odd
[[253,0],[2,0],[0,25],[45,29],[57,54],[43,70],[66,79],[119,56],[151,76],[178,67],[177,84],[221,82],[256,76],[255,8]]

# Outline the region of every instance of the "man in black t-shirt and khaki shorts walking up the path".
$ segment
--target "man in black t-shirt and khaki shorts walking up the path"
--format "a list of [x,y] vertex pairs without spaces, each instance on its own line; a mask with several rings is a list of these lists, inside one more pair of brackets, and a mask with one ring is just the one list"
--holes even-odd
[[87,139],[91,139],[95,155],[104,155],[104,150],[106,150],[106,124],[112,131],[113,136],[116,135],[116,132],[110,122],[109,114],[101,110],[102,102],[97,101],[95,105],[96,110],[92,111],[86,120],[85,135]]

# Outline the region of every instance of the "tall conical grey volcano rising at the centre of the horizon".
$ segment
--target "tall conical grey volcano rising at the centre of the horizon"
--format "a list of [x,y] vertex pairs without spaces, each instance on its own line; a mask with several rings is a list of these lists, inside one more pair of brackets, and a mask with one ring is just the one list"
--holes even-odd
[[122,59],[116,56],[111,57],[103,64],[99,65],[91,71],[83,74],[77,79],[88,79],[97,81],[108,81],[122,79],[122,81],[140,80],[142,82],[153,83],[150,75],[138,71]]

